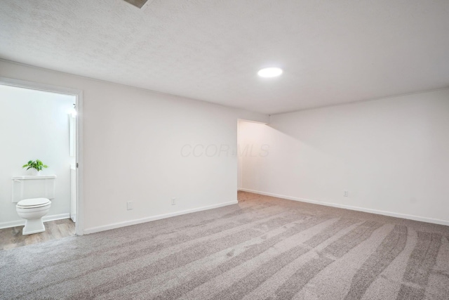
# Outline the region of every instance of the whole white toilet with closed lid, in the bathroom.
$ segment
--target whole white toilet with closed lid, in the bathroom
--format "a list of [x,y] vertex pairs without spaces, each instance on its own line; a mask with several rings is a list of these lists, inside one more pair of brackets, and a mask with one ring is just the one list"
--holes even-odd
[[13,202],[20,218],[25,219],[22,235],[45,231],[42,217],[55,198],[55,175],[13,176]]

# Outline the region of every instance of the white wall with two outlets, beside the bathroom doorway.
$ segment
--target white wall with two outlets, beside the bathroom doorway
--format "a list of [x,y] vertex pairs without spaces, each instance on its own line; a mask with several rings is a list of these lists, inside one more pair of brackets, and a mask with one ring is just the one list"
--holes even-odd
[[[267,115],[1,60],[0,77],[83,90],[86,233],[236,202],[232,150],[237,119],[268,120]],[[208,157],[198,147],[197,157],[183,156],[184,145],[217,145],[222,152],[213,155],[212,146]],[[128,201],[134,202],[133,210],[126,210]]]

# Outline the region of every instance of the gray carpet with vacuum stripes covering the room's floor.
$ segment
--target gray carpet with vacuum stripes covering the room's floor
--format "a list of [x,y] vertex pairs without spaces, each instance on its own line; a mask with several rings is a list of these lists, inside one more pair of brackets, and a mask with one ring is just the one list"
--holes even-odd
[[449,299],[449,228],[239,204],[0,251],[1,299]]

